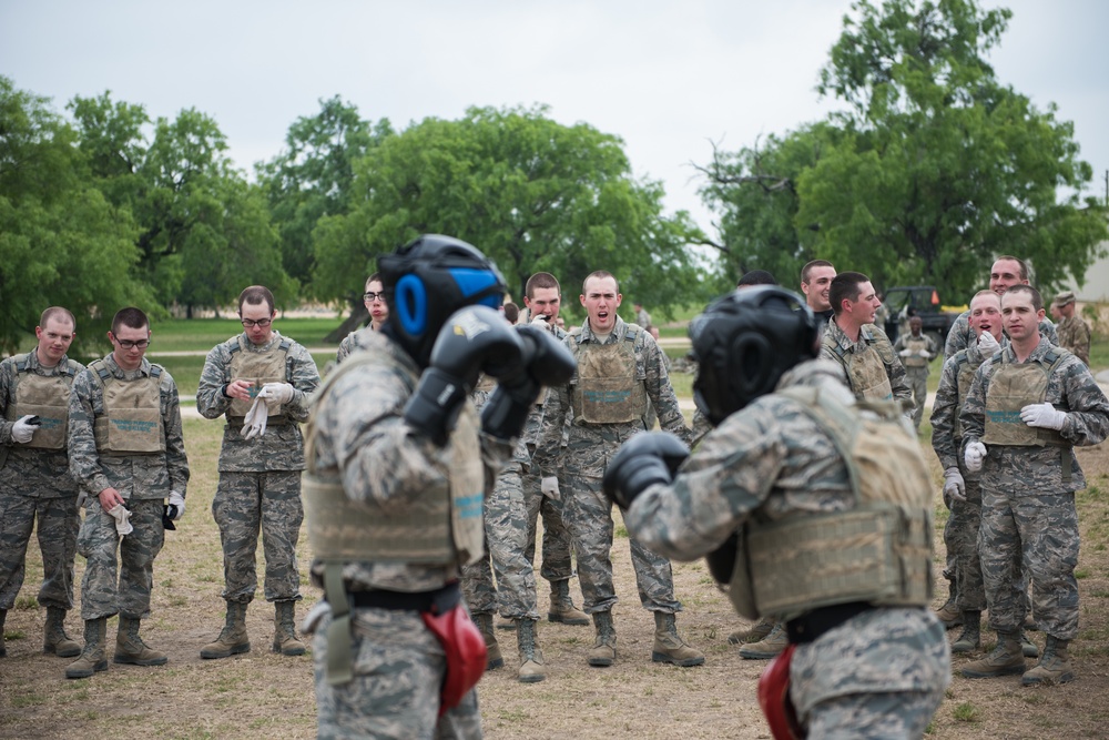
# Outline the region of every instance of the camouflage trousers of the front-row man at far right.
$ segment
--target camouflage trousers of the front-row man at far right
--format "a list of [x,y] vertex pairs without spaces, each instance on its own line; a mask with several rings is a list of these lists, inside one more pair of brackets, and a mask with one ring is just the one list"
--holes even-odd
[[1032,617],[1060,640],[1078,635],[1078,511],[1074,494],[1009,496],[983,486],[981,557],[989,626],[1020,628],[1027,614],[1025,571],[1032,581]]

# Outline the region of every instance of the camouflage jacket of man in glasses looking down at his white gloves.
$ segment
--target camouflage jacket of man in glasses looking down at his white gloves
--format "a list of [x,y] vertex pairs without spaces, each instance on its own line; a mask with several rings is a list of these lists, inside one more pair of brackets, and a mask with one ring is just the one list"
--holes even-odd
[[[204,418],[216,418],[231,408],[232,398],[223,395],[223,386],[234,379],[231,377],[231,361],[235,347],[243,352],[268,352],[285,338],[275,331],[269,342],[256,347],[244,332],[213,347],[201,371],[196,388],[196,410]],[[296,342],[292,342],[285,356],[285,381],[293,386],[293,401],[282,408],[289,423],[271,425],[265,434],[254,439],[244,439],[242,428],[237,425],[224,426],[220,472],[304,469],[304,439],[297,422],[308,419],[309,397],[319,385],[319,373],[312,355]]]

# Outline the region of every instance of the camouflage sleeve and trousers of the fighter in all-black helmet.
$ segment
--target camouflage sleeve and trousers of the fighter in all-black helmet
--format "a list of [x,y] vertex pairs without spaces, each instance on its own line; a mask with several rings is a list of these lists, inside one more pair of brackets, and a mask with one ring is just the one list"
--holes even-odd
[[[798,365],[792,375],[834,374],[842,383],[836,368],[821,365]],[[847,510],[854,500],[832,438],[798,402],[775,394],[710,432],[673,483],[644,490],[624,521],[647,547],[693,560],[744,521]],[[798,643],[790,680],[808,737],[923,737],[950,681],[950,652],[929,610],[874,608]]]

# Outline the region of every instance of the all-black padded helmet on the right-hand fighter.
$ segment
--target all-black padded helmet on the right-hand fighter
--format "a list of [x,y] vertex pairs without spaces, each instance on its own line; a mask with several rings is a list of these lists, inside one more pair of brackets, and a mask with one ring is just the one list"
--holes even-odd
[[690,322],[698,408],[719,425],[815,357],[817,338],[816,317],[796,293],[756,285],[719,298]]

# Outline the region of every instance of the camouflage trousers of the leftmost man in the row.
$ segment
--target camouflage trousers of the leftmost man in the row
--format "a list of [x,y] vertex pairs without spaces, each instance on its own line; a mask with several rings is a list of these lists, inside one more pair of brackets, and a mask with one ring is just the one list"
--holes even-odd
[[11,609],[23,586],[27,545],[35,528],[42,553],[39,604],[73,608],[73,558],[81,517],[77,496],[32,497],[0,493],[0,609]]

